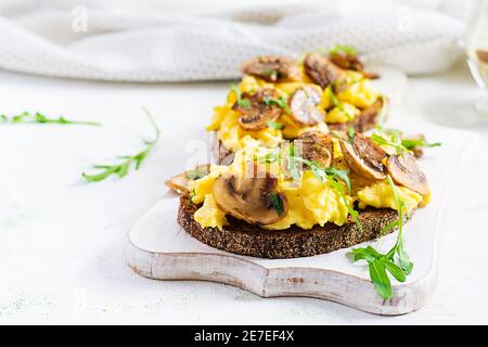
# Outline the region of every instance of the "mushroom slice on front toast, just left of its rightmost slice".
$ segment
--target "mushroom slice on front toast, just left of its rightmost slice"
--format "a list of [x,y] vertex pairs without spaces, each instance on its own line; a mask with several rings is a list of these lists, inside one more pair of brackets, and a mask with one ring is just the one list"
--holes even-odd
[[344,158],[352,171],[364,178],[375,180],[386,178],[382,160],[386,158],[387,154],[371,139],[355,133],[350,142],[343,139],[339,142]]

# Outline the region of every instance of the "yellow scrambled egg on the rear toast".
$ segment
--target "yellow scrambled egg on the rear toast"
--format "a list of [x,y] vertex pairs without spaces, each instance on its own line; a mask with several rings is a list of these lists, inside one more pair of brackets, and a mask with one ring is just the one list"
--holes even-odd
[[[337,93],[331,100],[331,91],[322,91],[321,102],[318,108],[325,113],[325,123],[319,123],[313,127],[303,127],[283,112],[277,123],[283,125],[281,129],[266,128],[262,130],[249,131],[239,126],[240,114],[232,110],[236,101],[234,91],[230,91],[224,105],[214,108],[211,123],[207,126],[208,131],[218,131],[219,140],[231,152],[251,145],[264,145],[275,147],[283,138],[295,139],[305,131],[319,130],[329,132],[326,123],[347,123],[357,117],[360,108],[371,106],[380,97],[364,79],[363,75],[354,70],[346,70],[347,88]],[[303,72],[303,81],[271,83],[253,76],[245,76],[239,83],[239,89],[243,93],[256,93],[260,88],[271,88],[278,91],[280,97],[290,98],[296,89],[304,86],[313,86],[310,79]]]

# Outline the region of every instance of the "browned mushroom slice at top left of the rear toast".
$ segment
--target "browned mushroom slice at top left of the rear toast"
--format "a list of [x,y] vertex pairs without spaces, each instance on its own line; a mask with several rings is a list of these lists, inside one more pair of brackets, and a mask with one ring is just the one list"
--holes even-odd
[[269,82],[297,81],[301,79],[298,64],[284,56],[256,56],[244,63],[244,74],[257,76]]

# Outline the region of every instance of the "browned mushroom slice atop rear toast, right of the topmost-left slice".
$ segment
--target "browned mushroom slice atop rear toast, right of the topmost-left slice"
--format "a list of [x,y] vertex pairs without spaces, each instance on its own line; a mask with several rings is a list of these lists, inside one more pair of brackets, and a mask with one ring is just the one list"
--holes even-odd
[[344,70],[334,65],[326,55],[310,53],[304,61],[305,72],[310,79],[325,89],[332,85],[335,91],[346,87],[346,75]]

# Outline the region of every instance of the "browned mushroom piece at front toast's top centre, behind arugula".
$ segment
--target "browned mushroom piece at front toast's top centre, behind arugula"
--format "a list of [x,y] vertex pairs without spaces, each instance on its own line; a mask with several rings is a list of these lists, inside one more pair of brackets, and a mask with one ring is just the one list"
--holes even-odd
[[295,140],[295,149],[299,149],[303,158],[322,164],[323,167],[330,167],[334,144],[330,133],[320,131],[307,131]]

